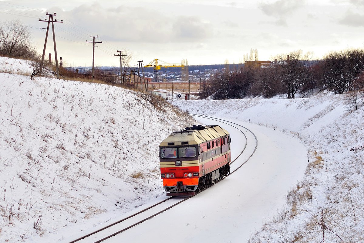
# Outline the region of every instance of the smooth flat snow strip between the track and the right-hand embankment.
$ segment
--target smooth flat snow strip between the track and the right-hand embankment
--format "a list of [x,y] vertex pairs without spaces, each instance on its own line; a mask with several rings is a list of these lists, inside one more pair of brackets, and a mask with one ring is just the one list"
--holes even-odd
[[[218,121],[196,118],[202,124],[220,125],[232,138],[232,159],[245,145],[238,130]],[[238,122],[256,134],[258,147],[238,171],[208,190],[105,242],[246,242],[265,216],[273,216],[285,194],[304,175],[307,150],[296,138],[270,128]],[[247,147],[232,171],[254,151],[256,141],[247,136]],[[294,163],[292,163],[294,161]]]

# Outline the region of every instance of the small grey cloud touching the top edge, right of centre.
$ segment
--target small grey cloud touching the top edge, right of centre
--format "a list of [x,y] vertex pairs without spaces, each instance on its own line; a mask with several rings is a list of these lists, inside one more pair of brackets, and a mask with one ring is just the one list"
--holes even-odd
[[259,3],[258,8],[268,16],[281,17],[302,7],[305,0],[278,0],[274,3]]

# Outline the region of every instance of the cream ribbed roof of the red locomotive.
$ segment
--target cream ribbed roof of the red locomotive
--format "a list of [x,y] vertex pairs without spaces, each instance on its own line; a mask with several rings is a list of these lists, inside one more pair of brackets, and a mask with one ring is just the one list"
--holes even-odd
[[[229,132],[218,125],[193,125],[190,128],[186,128],[186,130],[171,133],[159,146],[196,145],[224,137],[228,134]],[[172,142],[173,144],[171,144]]]

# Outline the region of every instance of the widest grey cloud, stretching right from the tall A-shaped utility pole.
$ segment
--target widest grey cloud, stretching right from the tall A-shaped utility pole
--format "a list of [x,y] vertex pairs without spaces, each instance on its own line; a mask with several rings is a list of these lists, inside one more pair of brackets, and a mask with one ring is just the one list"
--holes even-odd
[[163,12],[141,7],[122,5],[116,8],[104,8],[95,3],[63,11],[61,15],[78,26],[92,31],[93,35],[111,41],[198,42],[211,36],[207,24],[197,17],[172,18]]

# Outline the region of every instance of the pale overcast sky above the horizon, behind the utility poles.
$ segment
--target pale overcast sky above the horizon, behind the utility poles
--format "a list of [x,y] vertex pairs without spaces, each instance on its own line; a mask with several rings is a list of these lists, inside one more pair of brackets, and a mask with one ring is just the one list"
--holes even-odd
[[[32,8],[32,9],[30,9]],[[46,12],[56,12],[58,57],[92,65],[90,35],[98,35],[95,64],[118,66],[118,50],[133,63],[238,63],[250,48],[260,60],[301,49],[322,58],[331,50],[364,47],[364,0],[63,0],[0,1],[0,21],[16,17],[32,28],[43,51]],[[9,14],[11,13],[11,14]],[[28,17],[25,17],[28,16]],[[54,55],[52,35],[47,51]]]

